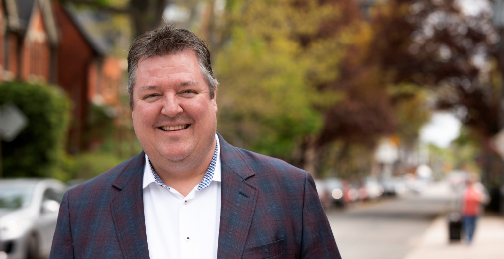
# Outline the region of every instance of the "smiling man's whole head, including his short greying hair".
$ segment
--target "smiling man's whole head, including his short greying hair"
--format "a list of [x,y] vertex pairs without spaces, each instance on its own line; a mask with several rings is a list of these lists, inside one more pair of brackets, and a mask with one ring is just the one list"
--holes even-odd
[[153,166],[211,158],[217,81],[203,40],[166,26],[139,36],[128,60],[133,126]]

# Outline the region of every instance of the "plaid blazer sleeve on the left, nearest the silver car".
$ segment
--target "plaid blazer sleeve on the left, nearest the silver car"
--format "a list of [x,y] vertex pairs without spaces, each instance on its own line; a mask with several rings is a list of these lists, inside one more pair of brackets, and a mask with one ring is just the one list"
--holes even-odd
[[72,232],[70,229],[70,210],[68,204],[68,191],[63,195],[59,205],[58,221],[56,231],[52,239],[50,259],[74,258],[74,245],[72,242]]

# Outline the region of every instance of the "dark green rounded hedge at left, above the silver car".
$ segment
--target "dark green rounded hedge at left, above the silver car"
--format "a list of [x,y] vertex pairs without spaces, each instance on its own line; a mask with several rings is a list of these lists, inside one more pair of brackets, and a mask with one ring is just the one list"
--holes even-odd
[[54,86],[3,82],[0,105],[12,102],[28,118],[28,125],[12,142],[3,142],[5,177],[56,177],[69,122],[70,101]]

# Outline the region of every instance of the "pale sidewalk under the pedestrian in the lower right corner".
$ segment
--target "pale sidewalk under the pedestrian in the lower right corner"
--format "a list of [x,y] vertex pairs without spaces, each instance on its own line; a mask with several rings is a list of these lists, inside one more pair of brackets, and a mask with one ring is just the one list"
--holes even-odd
[[439,217],[404,259],[502,259],[504,258],[504,217],[483,216],[476,225],[473,243],[450,243],[448,222]]

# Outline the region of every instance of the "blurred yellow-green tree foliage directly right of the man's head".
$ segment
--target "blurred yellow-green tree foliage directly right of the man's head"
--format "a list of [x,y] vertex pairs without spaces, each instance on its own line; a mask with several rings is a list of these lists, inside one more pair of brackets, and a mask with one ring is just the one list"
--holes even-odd
[[[233,144],[289,158],[301,136],[316,135],[323,109],[340,99],[321,83],[338,77],[344,44],[318,33],[336,9],[290,0],[235,3],[230,39],[215,59],[220,80],[219,132]],[[317,15],[316,15],[317,14]],[[327,55],[330,52],[332,55]]]

